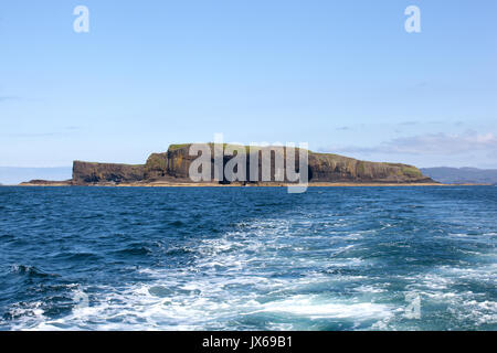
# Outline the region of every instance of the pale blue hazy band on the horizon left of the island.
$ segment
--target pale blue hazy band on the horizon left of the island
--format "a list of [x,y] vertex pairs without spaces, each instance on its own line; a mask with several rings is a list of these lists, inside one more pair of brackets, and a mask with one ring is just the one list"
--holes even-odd
[[0,167],[0,183],[17,185],[27,180],[67,180],[72,178],[71,167],[61,168],[15,168]]

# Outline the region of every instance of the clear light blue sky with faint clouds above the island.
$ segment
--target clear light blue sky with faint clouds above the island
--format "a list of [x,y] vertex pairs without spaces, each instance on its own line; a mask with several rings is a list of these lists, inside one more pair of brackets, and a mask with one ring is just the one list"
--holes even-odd
[[142,163],[215,132],[497,168],[497,1],[0,2],[0,165]]

